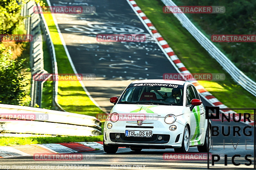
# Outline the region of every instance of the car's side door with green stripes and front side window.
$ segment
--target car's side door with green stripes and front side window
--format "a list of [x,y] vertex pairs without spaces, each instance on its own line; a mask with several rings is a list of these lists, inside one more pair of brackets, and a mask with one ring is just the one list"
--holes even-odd
[[[191,100],[196,99],[195,92],[193,90],[192,85],[187,86],[186,90],[186,110],[190,113],[190,140],[195,140],[200,136],[201,130],[200,130],[200,112],[198,112],[198,107],[194,107],[192,111],[190,111],[191,107]],[[199,107],[200,108],[200,107]],[[199,114],[198,114],[199,113]]]

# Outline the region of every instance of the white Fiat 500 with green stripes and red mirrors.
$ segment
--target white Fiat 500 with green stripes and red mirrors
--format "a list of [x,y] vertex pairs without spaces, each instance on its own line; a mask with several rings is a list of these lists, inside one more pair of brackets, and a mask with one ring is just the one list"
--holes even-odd
[[174,148],[199,152],[211,147],[211,122],[193,84],[178,80],[139,80],[126,87],[114,103],[104,124],[103,147],[116,153],[118,147],[142,149]]

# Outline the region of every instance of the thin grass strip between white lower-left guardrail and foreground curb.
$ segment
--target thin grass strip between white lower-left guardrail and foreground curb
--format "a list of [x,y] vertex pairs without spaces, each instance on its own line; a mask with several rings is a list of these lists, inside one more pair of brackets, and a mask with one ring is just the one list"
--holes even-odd
[[57,136],[57,137],[1,137],[0,146],[24,144],[56,144],[69,142],[103,141],[103,135],[93,137]]

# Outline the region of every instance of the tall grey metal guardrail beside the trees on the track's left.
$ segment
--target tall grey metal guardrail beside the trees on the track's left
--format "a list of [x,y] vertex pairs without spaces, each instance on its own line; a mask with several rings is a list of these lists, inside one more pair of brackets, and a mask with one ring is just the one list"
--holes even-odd
[[[43,55],[44,53],[43,53],[42,41],[46,41],[49,55],[51,56],[51,59],[52,59],[53,74],[55,75],[58,74],[55,49],[52,43],[49,28],[44,19],[44,15],[34,13],[34,10],[33,10],[34,7],[39,7],[39,6],[40,5],[36,4],[34,1],[28,1],[28,3],[24,4],[24,6],[21,9],[21,15],[27,17],[24,20],[27,34],[33,35],[33,41],[30,43],[30,64],[31,64],[30,67],[31,67],[32,77],[35,74],[37,76],[40,76],[40,74],[47,73],[47,71],[44,70],[44,55]],[[41,35],[41,30],[43,32],[43,36]],[[35,81],[32,78],[30,106],[35,106],[36,104],[38,104],[38,106],[41,107],[42,89],[43,89],[44,81]],[[58,94],[58,82],[53,81],[53,101],[52,101],[53,106],[55,107],[55,109],[65,111],[58,104],[57,94]]]

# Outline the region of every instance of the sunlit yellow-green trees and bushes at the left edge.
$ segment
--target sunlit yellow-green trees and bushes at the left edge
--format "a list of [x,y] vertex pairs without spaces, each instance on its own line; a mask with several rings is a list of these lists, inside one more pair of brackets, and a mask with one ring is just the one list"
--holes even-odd
[[[15,34],[15,29],[23,24],[20,16],[22,5],[30,0],[0,0],[0,34]],[[43,1],[36,0],[43,5]],[[9,49],[0,41],[0,102],[4,104],[28,105],[28,90],[25,75],[22,74],[25,59],[13,60]]]

